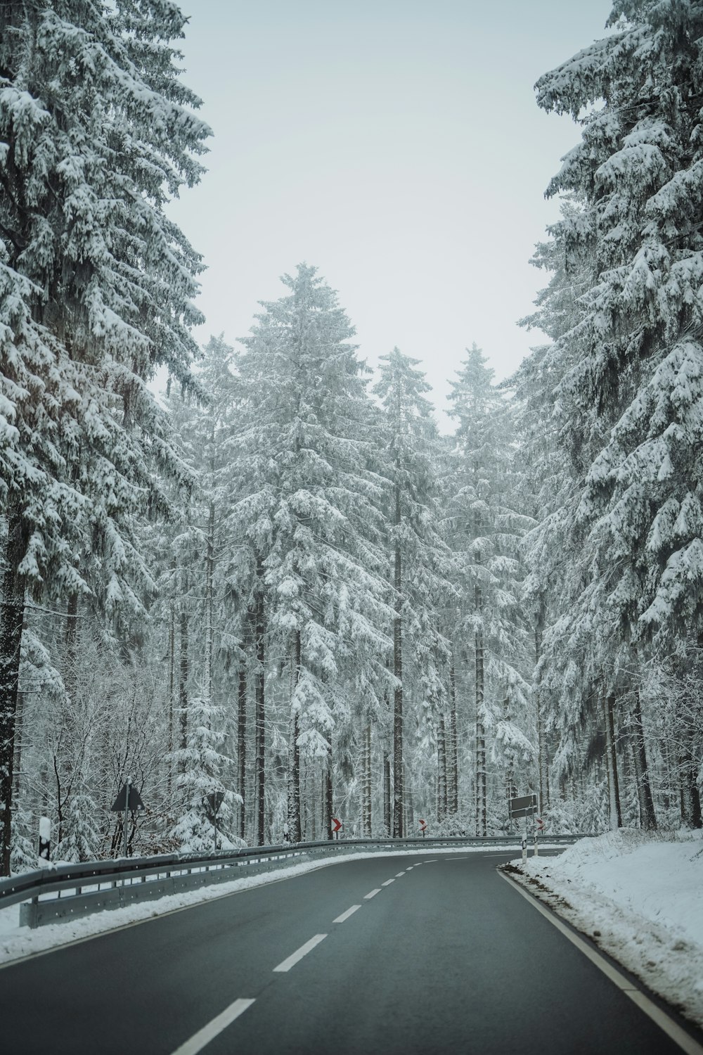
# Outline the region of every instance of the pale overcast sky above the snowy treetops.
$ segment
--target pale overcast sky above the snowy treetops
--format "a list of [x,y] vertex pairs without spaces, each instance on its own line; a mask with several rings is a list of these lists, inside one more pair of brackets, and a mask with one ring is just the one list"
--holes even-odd
[[[171,212],[204,256],[197,337],[230,343],[306,261],[374,365],[423,361],[437,408],[475,341],[496,378],[540,335],[516,320],[579,139],[533,84],[604,36],[608,0],[182,0],[184,81],[209,172]],[[445,423],[446,425],[446,423]]]

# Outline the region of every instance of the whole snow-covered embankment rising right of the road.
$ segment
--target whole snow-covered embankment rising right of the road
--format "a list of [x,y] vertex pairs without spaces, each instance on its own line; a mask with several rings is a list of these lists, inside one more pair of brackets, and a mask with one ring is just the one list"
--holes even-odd
[[506,870],[703,1027],[703,833],[613,831]]

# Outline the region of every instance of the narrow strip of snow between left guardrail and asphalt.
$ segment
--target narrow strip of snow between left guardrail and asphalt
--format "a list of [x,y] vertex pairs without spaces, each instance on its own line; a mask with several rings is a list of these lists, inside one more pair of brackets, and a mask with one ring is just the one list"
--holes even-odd
[[[425,856],[435,858],[438,853],[485,853],[486,851],[502,849],[503,847],[497,845],[428,847]],[[506,849],[506,852],[510,852],[510,850]],[[423,856],[423,850],[422,848],[415,848],[412,850],[389,850],[383,853],[345,853],[332,860],[317,859],[307,861],[290,865],[287,868],[278,868],[275,871],[267,871],[260,876],[234,879],[230,883],[214,883],[212,886],[198,887],[195,890],[170,895],[154,901],[137,901],[133,905],[105,909],[95,913],[92,916],[86,916],[83,919],[65,920],[62,923],[47,923],[36,931],[31,931],[26,926],[19,925],[20,906],[12,905],[9,908],[0,909],[0,964],[22,959],[25,956],[33,956],[37,953],[44,953],[59,945],[83,941],[85,938],[92,938],[94,935],[129,926],[132,923],[141,923],[144,920],[153,919],[156,916],[163,916],[179,908],[189,908],[192,905],[201,904],[203,901],[213,901],[228,894],[237,894],[239,890],[248,890],[254,886],[265,886],[267,883],[290,879],[292,876],[300,876],[306,871],[314,871],[316,868],[328,865],[343,864],[345,861],[359,861],[365,858],[408,856]]]

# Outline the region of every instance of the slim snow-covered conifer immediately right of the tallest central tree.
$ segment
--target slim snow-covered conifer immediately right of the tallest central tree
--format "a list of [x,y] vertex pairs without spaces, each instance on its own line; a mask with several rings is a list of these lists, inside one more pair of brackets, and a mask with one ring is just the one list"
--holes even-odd
[[405,729],[409,688],[421,714],[434,720],[446,705],[449,644],[441,632],[449,583],[449,550],[437,531],[437,430],[419,360],[393,348],[380,357],[373,391],[385,410],[386,512],[393,588],[392,833],[405,835]]

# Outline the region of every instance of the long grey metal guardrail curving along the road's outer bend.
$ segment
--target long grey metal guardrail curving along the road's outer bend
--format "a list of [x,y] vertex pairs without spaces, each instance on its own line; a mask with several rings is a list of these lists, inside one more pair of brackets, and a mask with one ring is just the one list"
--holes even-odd
[[[543,845],[573,843],[582,836],[544,837]],[[79,919],[103,908],[120,908],[197,886],[229,882],[308,860],[359,852],[431,851],[443,846],[515,846],[521,837],[447,837],[444,839],[343,839],[277,846],[246,846],[210,855],[162,853],[158,857],[56,865],[0,880],[0,908],[20,904],[20,923],[37,927]],[[73,893],[67,893],[73,891]]]

